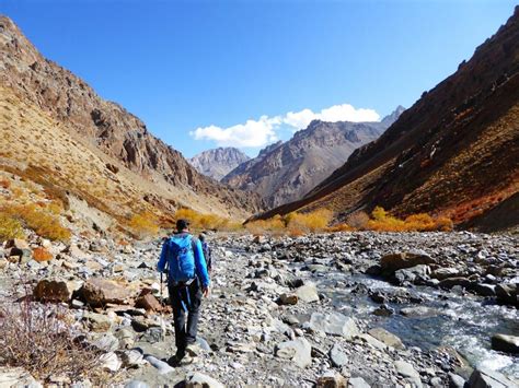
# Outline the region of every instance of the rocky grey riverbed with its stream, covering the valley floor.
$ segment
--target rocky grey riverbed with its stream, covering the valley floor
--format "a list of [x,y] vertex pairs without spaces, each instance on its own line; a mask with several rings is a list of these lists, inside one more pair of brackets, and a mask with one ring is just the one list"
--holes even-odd
[[[21,286],[13,295],[7,284],[24,279],[36,299],[66,307],[105,352],[100,367],[117,371],[123,386],[519,381],[516,237],[212,235],[211,244],[216,270],[203,304],[199,345],[194,362],[176,368],[163,362],[174,353],[174,337],[168,310],[160,314],[160,242],[11,242],[0,255],[2,299],[20,296]],[[36,247],[53,258],[34,260]],[[0,372],[1,385],[5,371]]]

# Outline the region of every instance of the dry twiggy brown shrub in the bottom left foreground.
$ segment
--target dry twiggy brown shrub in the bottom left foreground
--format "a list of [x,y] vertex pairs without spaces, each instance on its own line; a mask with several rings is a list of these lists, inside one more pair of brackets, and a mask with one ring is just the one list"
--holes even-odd
[[105,384],[102,353],[80,339],[58,306],[31,302],[0,305],[0,365],[22,367],[39,381],[66,377]]

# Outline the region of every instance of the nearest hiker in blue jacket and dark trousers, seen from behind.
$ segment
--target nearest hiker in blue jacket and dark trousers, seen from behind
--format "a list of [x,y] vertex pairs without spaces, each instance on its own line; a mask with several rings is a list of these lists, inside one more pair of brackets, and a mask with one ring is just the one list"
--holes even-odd
[[171,365],[178,365],[186,353],[194,353],[201,296],[209,295],[210,282],[201,243],[189,233],[189,222],[178,220],[176,230],[164,240],[157,266],[168,273],[173,308],[176,354],[168,361]]

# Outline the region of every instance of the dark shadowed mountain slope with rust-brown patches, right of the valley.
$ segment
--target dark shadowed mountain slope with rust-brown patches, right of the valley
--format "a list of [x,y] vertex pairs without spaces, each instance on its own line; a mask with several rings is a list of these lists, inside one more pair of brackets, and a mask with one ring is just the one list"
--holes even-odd
[[[330,208],[338,219],[383,205],[435,212],[477,226],[494,209],[517,209],[519,191],[519,7],[469,61],[422,97],[383,136],[302,200],[263,216]],[[519,213],[485,217],[486,230]],[[488,224],[489,223],[489,224]]]

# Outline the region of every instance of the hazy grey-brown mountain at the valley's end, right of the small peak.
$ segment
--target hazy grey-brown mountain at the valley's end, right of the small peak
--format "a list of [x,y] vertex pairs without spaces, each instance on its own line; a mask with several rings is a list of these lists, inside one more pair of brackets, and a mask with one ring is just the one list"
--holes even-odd
[[270,145],[222,181],[258,192],[269,205],[300,199],[342,166],[355,149],[377,139],[403,111],[381,122],[312,121],[285,143]]

